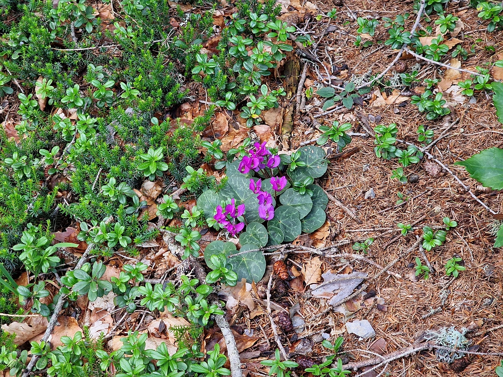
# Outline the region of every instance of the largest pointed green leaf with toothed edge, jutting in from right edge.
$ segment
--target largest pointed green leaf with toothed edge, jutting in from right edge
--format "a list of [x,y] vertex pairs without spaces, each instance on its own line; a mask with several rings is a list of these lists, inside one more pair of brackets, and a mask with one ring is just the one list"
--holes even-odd
[[493,190],[503,189],[503,149],[495,147],[484,149],[455,164],[464,166],[470,176],[484,187],[491,187]]

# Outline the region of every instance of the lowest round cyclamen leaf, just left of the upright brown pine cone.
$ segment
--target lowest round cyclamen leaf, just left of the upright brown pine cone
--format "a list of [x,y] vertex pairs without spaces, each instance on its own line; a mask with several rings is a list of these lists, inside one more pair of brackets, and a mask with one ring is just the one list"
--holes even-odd
[[[244,244],[239,252],[259,249],[257,245]],[[266,272],[266,258],[262,251],[251,251],[229,258],[232,271],[237,274],[237,279],[245,278],[247,282],[260,281]]]

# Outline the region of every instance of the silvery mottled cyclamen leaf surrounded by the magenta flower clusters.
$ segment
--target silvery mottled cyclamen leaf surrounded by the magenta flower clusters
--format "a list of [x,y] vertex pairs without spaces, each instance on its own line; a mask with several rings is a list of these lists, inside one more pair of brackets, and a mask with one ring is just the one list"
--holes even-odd
[[241,175],[231,175],[225,183],[225,186],[220,190],[220,196],[226,199],[234,198],[236,207],[244,203],[246,222],[250,223],[257,221],[263,223],[264,220],[259,216],[259,201],[257,194],[249,189],[250,178]]

